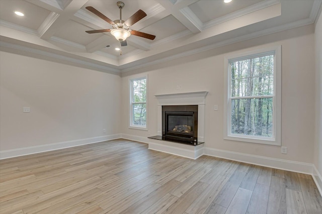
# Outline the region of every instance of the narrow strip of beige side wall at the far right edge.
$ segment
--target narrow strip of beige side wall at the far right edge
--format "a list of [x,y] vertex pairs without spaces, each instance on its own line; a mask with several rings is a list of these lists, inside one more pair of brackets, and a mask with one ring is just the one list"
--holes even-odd
[[[322,175],[322,15],[315,25],[315,145],[314,165]],[[317,178],[316,178],[317,179]],[[318,179],[317,179],[318,180]],[[322,188],[322,177],[319,178]]]

